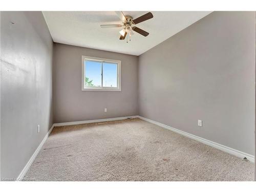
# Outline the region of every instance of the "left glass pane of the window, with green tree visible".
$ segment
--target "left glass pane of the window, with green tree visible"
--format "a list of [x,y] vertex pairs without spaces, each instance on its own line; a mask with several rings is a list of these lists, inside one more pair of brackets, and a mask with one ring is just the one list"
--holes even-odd
[[86,76],[84,82],[86,87],[101,87],[101,62],[84,61]]

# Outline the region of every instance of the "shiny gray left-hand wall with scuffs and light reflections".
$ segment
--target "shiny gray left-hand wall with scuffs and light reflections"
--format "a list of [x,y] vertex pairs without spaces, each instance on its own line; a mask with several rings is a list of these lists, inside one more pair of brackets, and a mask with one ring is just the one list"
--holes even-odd
[[52,126],[52,55],[41,12],[1,12],[2,178],[20,174]]

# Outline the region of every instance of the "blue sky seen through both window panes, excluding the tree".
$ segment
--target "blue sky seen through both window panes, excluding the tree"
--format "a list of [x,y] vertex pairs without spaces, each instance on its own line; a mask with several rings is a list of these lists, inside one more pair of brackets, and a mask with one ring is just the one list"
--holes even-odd
[[[95,87],[101,86],[101,62],[100,61],[84,61],[85,74],[92,80]],[[103,62],[103,87],[117,87],[117,65],[114,63]]]

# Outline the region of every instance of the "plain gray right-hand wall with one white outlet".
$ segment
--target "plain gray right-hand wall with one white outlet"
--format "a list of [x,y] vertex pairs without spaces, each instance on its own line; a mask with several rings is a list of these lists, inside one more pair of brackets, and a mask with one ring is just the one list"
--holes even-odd
[[139,56],[139,115],[254,155],[254,47],[254,12],[202,18]]

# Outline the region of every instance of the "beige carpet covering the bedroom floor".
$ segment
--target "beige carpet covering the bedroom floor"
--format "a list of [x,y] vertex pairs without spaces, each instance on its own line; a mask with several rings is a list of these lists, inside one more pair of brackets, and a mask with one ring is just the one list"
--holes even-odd
[[55,127],[24,180],[252,181],[254,164],[140,119]]

